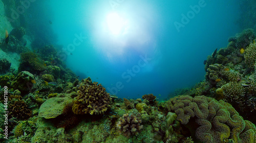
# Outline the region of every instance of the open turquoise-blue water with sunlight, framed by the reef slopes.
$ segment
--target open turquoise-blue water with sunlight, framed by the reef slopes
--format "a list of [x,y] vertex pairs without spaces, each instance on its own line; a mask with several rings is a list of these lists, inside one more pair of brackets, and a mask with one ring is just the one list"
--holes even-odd
[[241,31],[237,0],[67,0],[51,1],[49,9],[68,67],[120,98],[164,99],[192,87],[204,80],[207,56]]

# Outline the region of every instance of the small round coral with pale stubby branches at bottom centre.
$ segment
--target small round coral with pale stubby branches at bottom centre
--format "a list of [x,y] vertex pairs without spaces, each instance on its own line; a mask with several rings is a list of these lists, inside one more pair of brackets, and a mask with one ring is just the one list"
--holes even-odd
[[125,113],[122,117],[119,118],[118,123],[116,124],[124,135],[138,135],[140,130],[143,128],[143,125],[140,125],[141,120],[138,119],[133,113]]

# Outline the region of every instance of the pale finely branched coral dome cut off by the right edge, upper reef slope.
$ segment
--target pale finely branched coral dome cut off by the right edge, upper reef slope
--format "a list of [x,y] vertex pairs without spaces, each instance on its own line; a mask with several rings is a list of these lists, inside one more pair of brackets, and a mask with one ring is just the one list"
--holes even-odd
[[253,68],[256,59],[256,43],[251,43],[246,49],[244,54],[245,63],[249,68]]

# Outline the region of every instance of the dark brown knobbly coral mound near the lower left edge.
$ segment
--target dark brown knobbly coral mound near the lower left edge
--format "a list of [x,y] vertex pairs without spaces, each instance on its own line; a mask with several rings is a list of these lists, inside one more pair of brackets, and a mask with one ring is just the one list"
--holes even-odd
[[10,96],[9,99],[9,115],[19,120],[26,120],[31,117],[32,111],[21,96]]

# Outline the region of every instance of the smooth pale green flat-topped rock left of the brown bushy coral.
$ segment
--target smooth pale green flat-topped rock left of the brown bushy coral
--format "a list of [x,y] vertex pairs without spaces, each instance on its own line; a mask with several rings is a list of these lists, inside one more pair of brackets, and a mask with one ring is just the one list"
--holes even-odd
[[72,103],[72,98],[68,97],[52,97],[46,100],[44,103],[41,104],[38,112],[38,116],[51,119],[56,118],[57,116],[61,115],[63,108]]

